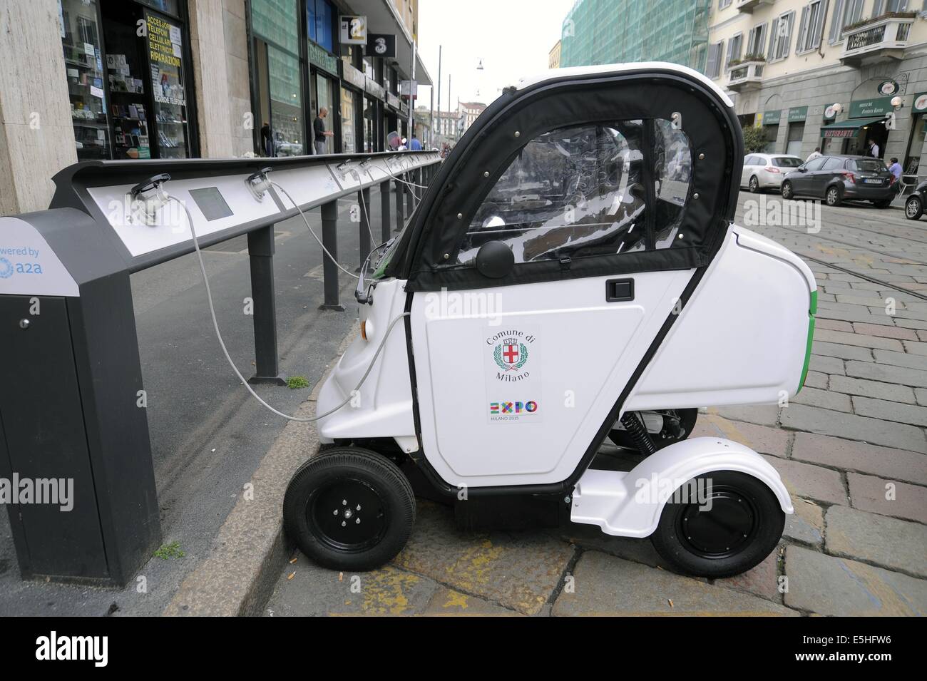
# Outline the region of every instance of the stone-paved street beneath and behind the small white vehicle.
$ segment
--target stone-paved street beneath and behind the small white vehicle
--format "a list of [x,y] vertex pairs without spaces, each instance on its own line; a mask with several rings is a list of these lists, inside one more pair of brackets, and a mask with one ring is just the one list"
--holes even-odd
[[844,206],[820,208],[819,232],[756,224],[781,208],[816,209],[742,194],[738,222],[805,257],[818,279],[806,388],[783,408],[706,410],[695,433],[755,448],[792,492],[795,514],[766,561],[692,579],[648,540],[570,523],[465,533],[451,510],[420,501],[392,564],[338,574],[296,554],[267,613],[927,614],[927,219]]

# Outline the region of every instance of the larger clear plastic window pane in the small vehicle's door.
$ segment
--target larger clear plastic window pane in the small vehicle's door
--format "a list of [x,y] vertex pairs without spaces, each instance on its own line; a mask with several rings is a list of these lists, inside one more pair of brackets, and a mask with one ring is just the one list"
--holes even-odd
[[643,127],[598,123],[531,140],[476,210],[456,262],[493,240],[511,246],[516,263],[643,250]]

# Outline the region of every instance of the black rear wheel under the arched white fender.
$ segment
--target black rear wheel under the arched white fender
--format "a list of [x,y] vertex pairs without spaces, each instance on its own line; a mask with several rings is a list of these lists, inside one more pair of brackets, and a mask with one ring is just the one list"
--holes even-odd
[[[687,486],[700,480],[710,481],[711,510],[699,511],[698,499],[670,498],[650,537],[654,549],[683,574],[718,579],[756,567],[781,539],[785,513],[779,499],[746,473],[705,473]],[[703,485],[707,492],[708,483]]]

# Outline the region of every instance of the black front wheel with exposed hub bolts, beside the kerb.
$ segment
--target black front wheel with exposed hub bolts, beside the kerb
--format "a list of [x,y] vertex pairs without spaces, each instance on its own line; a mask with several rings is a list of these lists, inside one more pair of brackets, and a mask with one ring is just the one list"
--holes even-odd
[[293,475],[284,529],[313,561],[333,570],[372,570],[402,550],[415,495],[399,467],[367,449],[320,452]]

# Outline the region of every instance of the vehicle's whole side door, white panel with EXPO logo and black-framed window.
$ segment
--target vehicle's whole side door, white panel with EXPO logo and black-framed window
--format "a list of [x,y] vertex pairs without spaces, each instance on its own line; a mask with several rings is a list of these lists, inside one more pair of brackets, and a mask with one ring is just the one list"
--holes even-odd
[[503,95],[425,197],[408,323],[422,463],[446,486],[578,477],[717,252],[736,118],[700,80],[649,75],[647,98],[624,74]]

